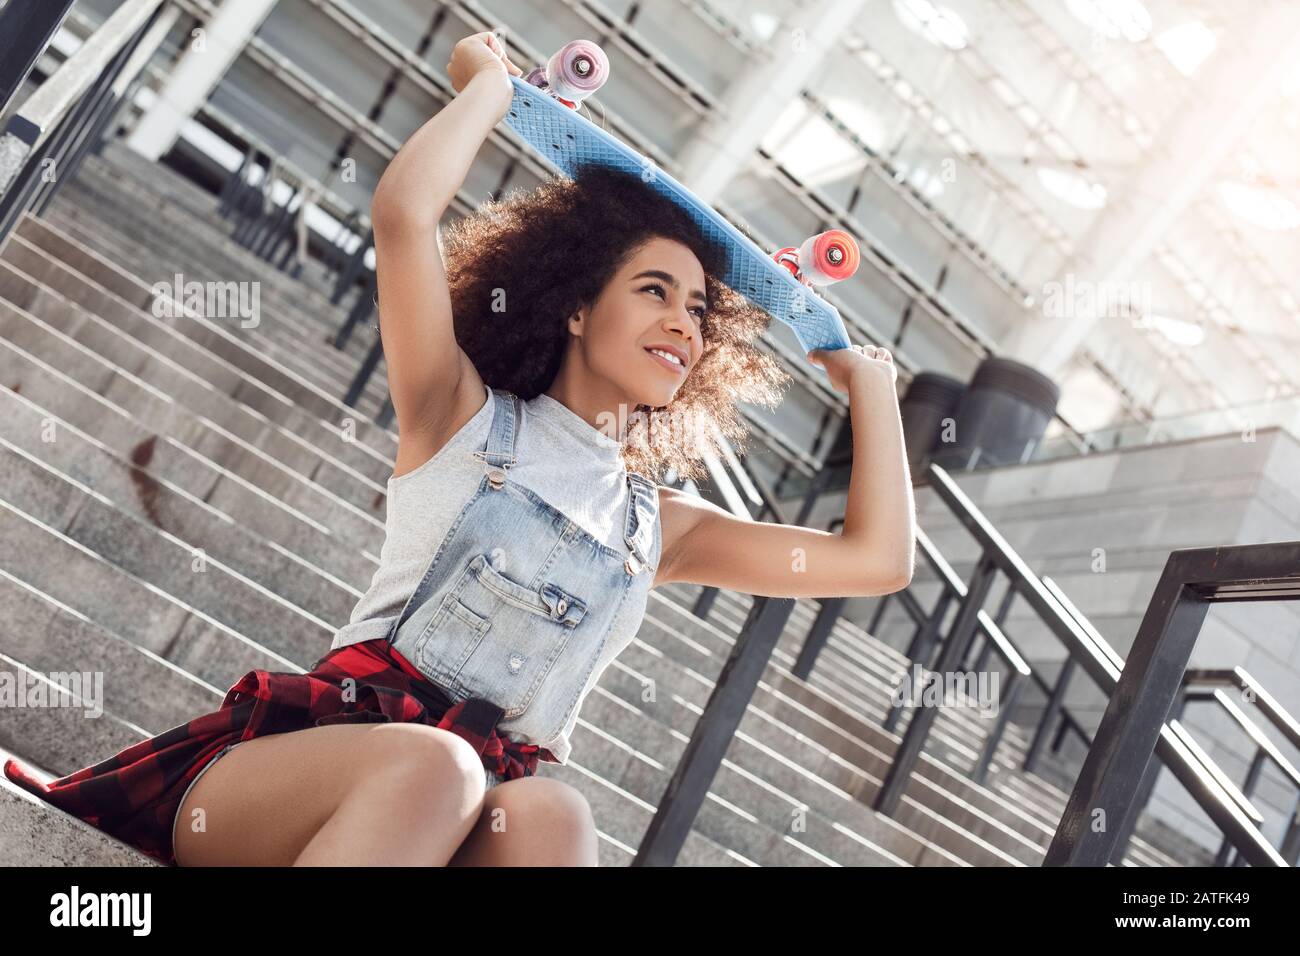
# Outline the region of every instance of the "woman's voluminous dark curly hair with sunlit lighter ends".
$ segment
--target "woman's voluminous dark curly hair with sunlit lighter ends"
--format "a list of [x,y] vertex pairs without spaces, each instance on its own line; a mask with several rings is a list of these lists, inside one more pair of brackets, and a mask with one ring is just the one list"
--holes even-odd
[[[623,460],[655,481],[668,468],[698,480],[707,475],[705,455],[719,454],[714,425],[744,451],[737,401],[776,407],[789,375],[755,345],[771,316],[718,278],[727,252],[685,212],[637,176],[588,165],[573,179],[482,203],[442,230],[442,254],[456,341],[484,382],[526,401],[559,373],[568,317],[656,237],[681,242],[703,267],[703,351],[670,405],[637,406],[628,416]],[[526,308],[502,312],[502,300]]]

